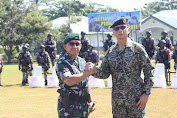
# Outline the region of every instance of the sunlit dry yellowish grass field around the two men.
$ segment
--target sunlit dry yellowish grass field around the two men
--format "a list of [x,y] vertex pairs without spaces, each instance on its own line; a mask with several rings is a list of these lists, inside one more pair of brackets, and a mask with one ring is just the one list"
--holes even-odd
[[[0,118],[57,118],[57,88],[29,88],[21,86],[21,81],[22,72],[18,71],[17,64],[4,66]],[[177,90],[170,87],[152,88],[147,118],[177,118]],[[89,118],[112,118],[111,89],[93,88],[92,94],[97,103]]]

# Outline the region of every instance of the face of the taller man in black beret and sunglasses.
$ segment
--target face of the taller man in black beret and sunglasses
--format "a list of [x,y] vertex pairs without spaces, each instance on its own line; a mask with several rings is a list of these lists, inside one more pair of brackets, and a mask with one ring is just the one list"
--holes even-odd
[[128,37],[129,33],[130,33],[130,28],[126,24],[125,25],[116,25],[113,28],[113,34],[119,40],[126,39]]

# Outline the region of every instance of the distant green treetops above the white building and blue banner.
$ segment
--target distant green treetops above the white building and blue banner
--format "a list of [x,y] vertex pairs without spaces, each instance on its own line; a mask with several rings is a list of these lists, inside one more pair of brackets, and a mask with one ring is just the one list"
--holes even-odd
[[118,12],[117,9],[106,7],[97,3],[81,3],[80,1],[59,0],[50,5],[50,8],[42,10],[43,15],[49,20],[64,16],[87,16],[89,13]]

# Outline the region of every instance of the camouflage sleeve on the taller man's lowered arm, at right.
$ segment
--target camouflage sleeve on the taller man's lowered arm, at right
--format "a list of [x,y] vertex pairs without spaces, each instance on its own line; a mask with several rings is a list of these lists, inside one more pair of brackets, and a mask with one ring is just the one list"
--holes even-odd
[[151,91],[154,79],[154,67],[145,51],[142,47],[139,51],[139,64],[144,73],[144,88],[143,91]]

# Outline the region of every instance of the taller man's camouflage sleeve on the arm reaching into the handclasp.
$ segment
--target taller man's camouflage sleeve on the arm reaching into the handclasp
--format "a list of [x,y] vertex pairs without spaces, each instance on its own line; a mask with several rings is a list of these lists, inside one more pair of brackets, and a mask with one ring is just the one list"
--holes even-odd
[[107,79],[110,75],[110,67],[108,64],[108,55],[103,58],[103,61],[101,63],[100,67],[97,67],[96,73],[93,74],[94,77],[100,78],[100,79]]

